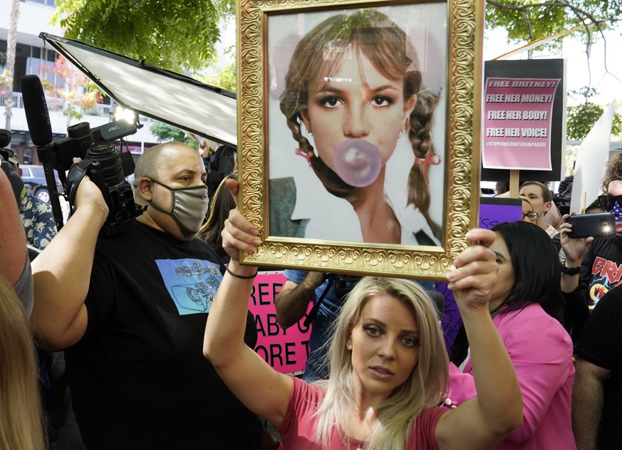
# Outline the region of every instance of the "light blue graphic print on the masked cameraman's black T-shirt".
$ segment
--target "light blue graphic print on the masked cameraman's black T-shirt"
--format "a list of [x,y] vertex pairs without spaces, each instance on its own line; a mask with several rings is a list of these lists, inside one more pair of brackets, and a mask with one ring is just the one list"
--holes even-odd
[[180,315],[209,313],[222,275],[218,265],[200,259],[157,259],[162,281]]

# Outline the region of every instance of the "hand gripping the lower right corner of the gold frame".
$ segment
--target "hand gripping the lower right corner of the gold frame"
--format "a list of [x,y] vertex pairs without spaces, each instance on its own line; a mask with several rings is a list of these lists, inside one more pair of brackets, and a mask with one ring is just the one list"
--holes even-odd
[[499,271],[497,256],[488,248],[495,234],[486,229],[472,229],[466,238],[475,245],[455,258],[455,270],[447,273],[447,287],[462,305],[487,309]]

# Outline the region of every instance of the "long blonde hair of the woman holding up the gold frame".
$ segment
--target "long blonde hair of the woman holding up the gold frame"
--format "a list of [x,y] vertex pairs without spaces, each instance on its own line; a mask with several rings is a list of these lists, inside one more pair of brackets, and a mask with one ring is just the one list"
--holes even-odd
[[322,448],[328,445],[333,427],[338,427],[344,439],[350,434],[355,394],[352,353],[346,347],[346,340],[365,305],[379,295],[400,300],[413,310],[421,347],[418,364],[408,380],[375,407],[375,423],[366,450],[405,449],[420,413],[436,407],[445,398],[449,379],[447,352],[432,299],[412,281],[364,277],[348,294],[334,325],[328,350],[328,380],[317,382],[326,389],[316,412],[316,441]]

